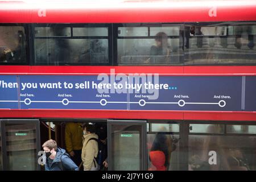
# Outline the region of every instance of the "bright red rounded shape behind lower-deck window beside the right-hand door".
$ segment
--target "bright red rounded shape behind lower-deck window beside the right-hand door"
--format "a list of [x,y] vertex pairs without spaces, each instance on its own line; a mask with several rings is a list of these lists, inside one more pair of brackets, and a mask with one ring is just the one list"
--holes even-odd
[[166,171],[166,167],[164,166],[166,156],[162,151],[151,151],[149,153],[149,158],[151,161],[151,167],[148,171]]

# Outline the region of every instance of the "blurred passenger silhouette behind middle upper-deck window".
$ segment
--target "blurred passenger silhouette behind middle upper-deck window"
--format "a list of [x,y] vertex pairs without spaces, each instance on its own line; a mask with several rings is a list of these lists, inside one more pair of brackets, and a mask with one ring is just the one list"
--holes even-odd
[[170,46],[168,45],[168,36],[164,32],[158,32],[155,36],[156,45],[150,48],[150,61],[151,63],[156,63],[158,62],[155,60],[156,56],[164,56],[163,60],[167,62],[171,52]]

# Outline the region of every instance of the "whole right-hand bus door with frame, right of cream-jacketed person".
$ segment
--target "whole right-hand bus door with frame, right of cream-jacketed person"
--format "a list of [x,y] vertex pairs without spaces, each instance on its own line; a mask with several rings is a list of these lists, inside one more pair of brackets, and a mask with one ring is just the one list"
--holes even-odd
[[109,170],[146,170],[146,121],[108,120]]

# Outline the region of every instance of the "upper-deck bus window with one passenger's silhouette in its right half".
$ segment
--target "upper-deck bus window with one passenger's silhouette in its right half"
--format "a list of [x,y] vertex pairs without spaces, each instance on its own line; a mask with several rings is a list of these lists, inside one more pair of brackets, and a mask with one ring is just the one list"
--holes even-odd
[[119,65],[180,63],[180,27],[118,27]]

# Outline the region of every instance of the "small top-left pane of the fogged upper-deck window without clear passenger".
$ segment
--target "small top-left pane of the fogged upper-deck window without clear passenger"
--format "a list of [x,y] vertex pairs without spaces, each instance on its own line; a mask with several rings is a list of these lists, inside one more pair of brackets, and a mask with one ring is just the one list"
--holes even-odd
[[35,36],[71,36],[71,27],[35,27]]

